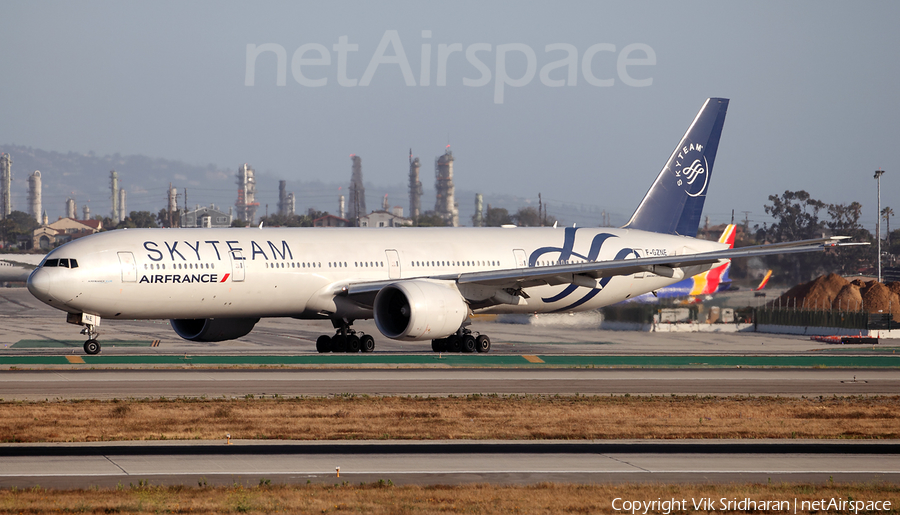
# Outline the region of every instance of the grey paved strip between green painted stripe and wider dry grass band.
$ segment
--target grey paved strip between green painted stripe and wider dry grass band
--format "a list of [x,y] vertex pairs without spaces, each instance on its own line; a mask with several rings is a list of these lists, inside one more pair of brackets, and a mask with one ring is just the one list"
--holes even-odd
[[896,395],[894,369],[73,370],[0,374],[0,399],[366,395]]

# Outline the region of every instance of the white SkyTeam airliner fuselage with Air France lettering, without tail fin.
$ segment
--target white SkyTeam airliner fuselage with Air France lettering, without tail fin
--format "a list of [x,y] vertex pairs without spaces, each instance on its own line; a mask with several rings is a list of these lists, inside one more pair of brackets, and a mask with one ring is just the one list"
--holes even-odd
[[[32,276],[41,301],[108,319],[236,317],[371,318],[343,302],[352,283],[434,278],[587,261],[683,255],[727,248],[712,241],[610,228],[129,229],[87,236]],[[618,256],[618,257],[617,257]],[[707,270],[684,270],[690,276]],[[38,274],[42,274],[38,276]],[[571,284],[525,289],[492,313],[581,311],[656,290],[680,278],[649,272],[607,278],[602,289]],[[465,297],[466,285],[459,285]],[[471,289],[472,287],[468,287]],[[477,288],[477,287],[476,287]]]

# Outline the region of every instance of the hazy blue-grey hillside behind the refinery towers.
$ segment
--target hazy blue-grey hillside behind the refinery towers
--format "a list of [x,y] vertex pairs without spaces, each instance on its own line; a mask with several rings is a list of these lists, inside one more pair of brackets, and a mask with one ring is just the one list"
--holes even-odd
[[[110,200],[110,170],[116,170],[120,187],[127,192],[127,211],[159,212],[166,206],[166,190],[169,183],[178,188],[178,205],[184,205],[184,190],[187,188],[188,205],[215,204],[228,210],[237,199],[237,169],[243,163],[234,163],[232,169],[224,169],[214,164],[205,166],[191,165],[181,161],[152,158],[142,155],[122,156],[120,154],[98,156],[93,152],[79,154],[76,152],[53,152],[20,145],[0,145],[0,152],[7,152],[12,158],[12,202],[13,209],[28,209],[28,176],[35,170],[41,171],[42,207],[47,211],[50,220],[65,215],[67,198],[74,198],[77,205],[77,216],[81,217],[82,206],[89,205],[91,215],[108,216],[112,210]],[[253,165],[253,163],[250,163]],[[365,174],[365,167],[363,168]],[[422,198],[423,210],[434,208],[434,190],[429,186],[429,174],[422,174],[425,183]],[[257,200],[260,203],[258,216],[277,210],[278,181],[282,177],[273,177],[257,171]],[[366,182],[366,205],[370,210],[380,209],[382,199],[388,194],[390,206],[402,206],[404,214],[409,214],[409,197],[406,189],[406,174],[398,177],[393,185],[373,185]],[[296,210],[305,212],[309,208],[319,211],[337,213],[338,195],[347,195],[350,181],[350,167],[347,166],[345,182],[301,182],[289,180],[287,191],[294,192]],[[341,188],[339,190],[339,188]],[[459,220],[462,225],[471,225],[475,212],[475,191],[457,188],[456,201],[459,204]],[[349,200],[348,200],[349,202]],[[484,206],[504,207],[515,213],[520,207],[537,206],[535,198],[523,199],[504,194],[484,194]],[[555,205],[556,204],[556,205]],[[549,201],[551,218],[558,218],[561,223],[571,225],[577,222],[580,226],[596,226],[602,221],[602,215],[596,206],[579,206],[573,204],[559,205]],[[348,206],[349,207],[349,206]],[[618,213],[611,215],[613,224],[625,222],[626,216]]]

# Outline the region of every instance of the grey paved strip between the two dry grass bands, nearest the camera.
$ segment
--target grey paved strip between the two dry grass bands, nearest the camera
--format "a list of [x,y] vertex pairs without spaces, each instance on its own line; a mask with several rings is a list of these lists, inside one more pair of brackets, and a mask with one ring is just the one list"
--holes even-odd
[[[900,444],[813,441],[0,445],[0,487],[900,481]],[[338,477],[337,467],[340,467]],[[177,471],[177,472],[176,472]]]

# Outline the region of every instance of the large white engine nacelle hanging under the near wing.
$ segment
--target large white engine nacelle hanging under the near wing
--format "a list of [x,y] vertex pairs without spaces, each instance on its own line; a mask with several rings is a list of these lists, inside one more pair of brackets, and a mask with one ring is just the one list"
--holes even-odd
[[395,340],[433,340],[455,333],[469,307],[451,283],[417,280],[385,286],[372,306],[381,334]]

